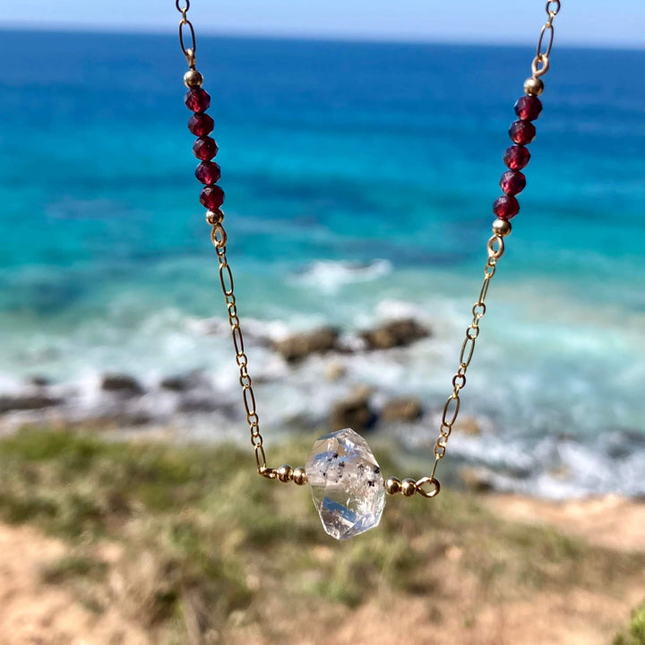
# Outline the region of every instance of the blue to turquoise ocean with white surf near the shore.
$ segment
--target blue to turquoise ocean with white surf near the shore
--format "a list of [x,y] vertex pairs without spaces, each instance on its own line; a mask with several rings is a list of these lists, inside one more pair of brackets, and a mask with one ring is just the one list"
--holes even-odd
[[[423,422],[388,432],[431,454],[533,44],[198,42],[264,434],[321,423],[361,383],[377,403],[424,401]],[[0,392],[43,376],[91,409],[101,375],[125,373],[141,405],[170,410],[159,380],[197,371],[241,406],[175,27],[5,31],[0,54]],[[453,436],[446,459],[499,489],[645,495],[643,65],[645,51],[555,43],[462,394],[483,429]],[[253,343],[397,315],[431,338],[293,368]],[[323,377],[330,360],[340,380]],[[246,439],[217,414],[173,423]]]

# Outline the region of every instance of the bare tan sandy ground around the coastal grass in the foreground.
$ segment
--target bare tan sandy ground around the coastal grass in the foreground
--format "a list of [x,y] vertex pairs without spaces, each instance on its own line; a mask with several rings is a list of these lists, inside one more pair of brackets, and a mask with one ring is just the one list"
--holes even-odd
[[[484,503],[508,519],[545,522],[603,546],[645,548],[645,503],[618,497],[551,503],[503,495]],[[160,645],[116,608],[98,614],[64,586],[43,584],[43,568],[64,553],[63,543],[30,527],[0,524],[0,645]],[[454,575],[450,559],[437,563],[439,575],[452,572],[448,597],[381,598],[339,615],[340,620],[328,618],[319,633],[297,615],[292,623],[283,618],[282,629],[293,629],[294,645],[608,645],[645,598],[645,572],[634,572],[633,583],[618,595],[572,589],[495,606],[471,595],[468,575]],[[231,645],[272,642],[271,636],[244,627],[231,636]]]

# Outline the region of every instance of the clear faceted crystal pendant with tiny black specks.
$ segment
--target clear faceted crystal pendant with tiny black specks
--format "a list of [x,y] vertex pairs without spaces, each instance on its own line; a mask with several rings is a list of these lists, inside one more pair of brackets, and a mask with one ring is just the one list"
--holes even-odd
[[367,442],[349,428],[325,434],[305,466],[323,529],[336,539],[374,529],[385,505],[383,475]]

